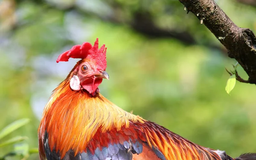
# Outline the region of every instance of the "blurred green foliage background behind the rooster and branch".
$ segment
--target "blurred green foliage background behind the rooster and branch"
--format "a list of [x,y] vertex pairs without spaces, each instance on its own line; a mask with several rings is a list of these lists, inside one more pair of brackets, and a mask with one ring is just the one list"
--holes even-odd
[[[215,1],[256,33],[255,1]],[[256,86],[237,82],[226,93],[225,67],[236,61],[178,0],[1,0],[0,129],[31,120],[6,140],[26,136],[38,147],[44,105],[78,61],[56,58],[96,38],[108,47],[110,76],[99,88],[116,105],[230,156],[256,152]],[[12,150],[0,147],[0,157]]]

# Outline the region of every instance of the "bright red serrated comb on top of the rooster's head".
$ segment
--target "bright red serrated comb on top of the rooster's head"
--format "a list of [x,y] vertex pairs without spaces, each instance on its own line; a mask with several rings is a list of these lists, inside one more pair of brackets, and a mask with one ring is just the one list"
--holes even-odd
[[106,52],[107,48],[105,48],[105,44],[103,44],[99,49],[99,41],[97,38],[94,46],[92,46],[89,42],[84,42],[82,45],[73,46],[70,50],[58,56],[57,63],[59,61],[68,61],[69,58],[87,58],[96,61],[96,65],[98,66],[99,70],[106,70]]

